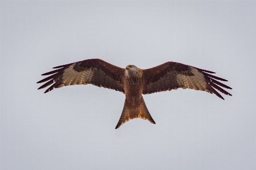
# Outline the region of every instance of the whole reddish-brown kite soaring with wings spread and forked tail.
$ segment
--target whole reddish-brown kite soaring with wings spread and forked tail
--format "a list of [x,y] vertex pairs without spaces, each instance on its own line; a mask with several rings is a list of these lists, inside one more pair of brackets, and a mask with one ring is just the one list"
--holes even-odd
[[124,93],[124,108],[116,128],[134,118],[142,118],[155,124],[142,94],[182,88],[214,93],[222,99],[224,98],[216,89],[221,93],[232,96],[220,86],[227,89],[231,88],[217,81],[227,80],[213,76],[212,73],[214,72],[175,62],[166,62],[157,67],[140,69],[135,65],[120,68],[101,59],[88,59],[60,65],[54,67],[54,69],[54,71],[42,74],[42,76],[52,74],[51,76],[37,82],[47,81],[38,89],[46,88],[52,84],[44,93],[63,86],[87,84]]

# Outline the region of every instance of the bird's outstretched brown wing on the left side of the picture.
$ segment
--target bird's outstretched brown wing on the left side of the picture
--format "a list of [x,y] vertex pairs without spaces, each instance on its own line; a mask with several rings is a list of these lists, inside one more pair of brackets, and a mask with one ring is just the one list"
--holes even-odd
[[76,63],[54,67],[54,71],[44,73],[42,76],[50,75],[37,83],[46,82],[38,89],[51,85],[46,92],[54,88],[69,85],[92,84],[99,87],[117,90],[124,93],[122,86],[124,69],[116,67],[100,59],[83,60]]

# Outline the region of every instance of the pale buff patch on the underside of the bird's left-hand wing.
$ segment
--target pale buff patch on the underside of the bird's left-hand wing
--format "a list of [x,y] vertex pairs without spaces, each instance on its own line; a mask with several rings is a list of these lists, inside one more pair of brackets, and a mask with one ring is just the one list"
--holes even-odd
[[70,65],[67,69],[65,69],[63,73],[63,85],[69,86],[69,85],[86,85],[88,82],[91,81],[91,78],[94,74],[92,72],[92,69],[86,69],[82,72],[77,72],[74,70],[74,66],[76,63]]

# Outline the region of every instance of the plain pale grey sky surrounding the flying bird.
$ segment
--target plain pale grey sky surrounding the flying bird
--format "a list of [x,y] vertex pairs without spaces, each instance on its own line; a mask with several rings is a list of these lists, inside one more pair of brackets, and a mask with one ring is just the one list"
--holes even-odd
[[[256,1],[1,1],[1,169],[256,169]],[[99,58],[216,72],[233,96],[144,95],[156,125],[115,130],[123,93],[37,90],[52,67]]]

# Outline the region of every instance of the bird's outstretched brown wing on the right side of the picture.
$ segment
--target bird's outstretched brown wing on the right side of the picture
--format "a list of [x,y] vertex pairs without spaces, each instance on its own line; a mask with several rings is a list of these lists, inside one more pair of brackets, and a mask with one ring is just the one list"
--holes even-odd
[[227,80],[213,76],[209,73],[214,72],[181,63],[166,62],[157,67],[144,70],[145,88],[143,94],[183,88],[214,93],[222,99],[224,98],[215,89],[219,90],[221,93],[232,96],[220,86],[227,89],[231,88],[217,81]]

